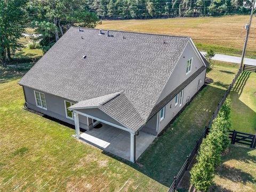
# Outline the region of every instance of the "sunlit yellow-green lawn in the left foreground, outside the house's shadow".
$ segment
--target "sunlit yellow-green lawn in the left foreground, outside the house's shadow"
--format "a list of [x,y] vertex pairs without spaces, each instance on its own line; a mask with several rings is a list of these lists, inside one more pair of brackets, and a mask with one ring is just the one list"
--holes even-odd
[[22,110],[17,82],[0,84],[0,191],[167,190],[137,165],[77,141],[69,127]]

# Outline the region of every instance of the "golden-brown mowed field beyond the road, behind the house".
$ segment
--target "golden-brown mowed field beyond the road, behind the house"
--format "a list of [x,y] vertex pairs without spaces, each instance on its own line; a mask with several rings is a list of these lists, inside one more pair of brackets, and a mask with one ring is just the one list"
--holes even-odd
[[[241,55],[249,15],[169,18],[149,20],[103,20],[98,29],[190,36],[202,51]],[[256,58],[256,17],[253,17],[246,57]]]

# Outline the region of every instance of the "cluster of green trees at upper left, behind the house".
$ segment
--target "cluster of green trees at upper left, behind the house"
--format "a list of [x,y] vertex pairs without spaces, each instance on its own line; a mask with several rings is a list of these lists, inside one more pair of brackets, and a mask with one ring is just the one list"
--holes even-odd
[[6,66],[15,51],[22,49],[19,39],[26,27],[41,34],[35,41],[46,52],[70,26],[93,28],[98,21],[87,0],[1,0],[0,63]]

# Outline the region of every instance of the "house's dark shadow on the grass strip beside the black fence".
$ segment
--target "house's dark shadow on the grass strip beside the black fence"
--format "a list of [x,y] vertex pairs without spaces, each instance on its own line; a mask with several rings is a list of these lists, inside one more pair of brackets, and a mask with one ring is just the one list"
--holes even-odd
[[223,89],[206,86],[163,135],[156,138],[141,155],[137,162],[143,166],[131,166],[170,187],[173,177],[194,148],[224,93]]

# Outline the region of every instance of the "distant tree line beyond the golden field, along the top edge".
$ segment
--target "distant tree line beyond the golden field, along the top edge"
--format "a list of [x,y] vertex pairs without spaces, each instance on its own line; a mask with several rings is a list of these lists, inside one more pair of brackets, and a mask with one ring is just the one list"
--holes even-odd
[[101,19],[199,17],[250,13],[250,0],[88,0]]

